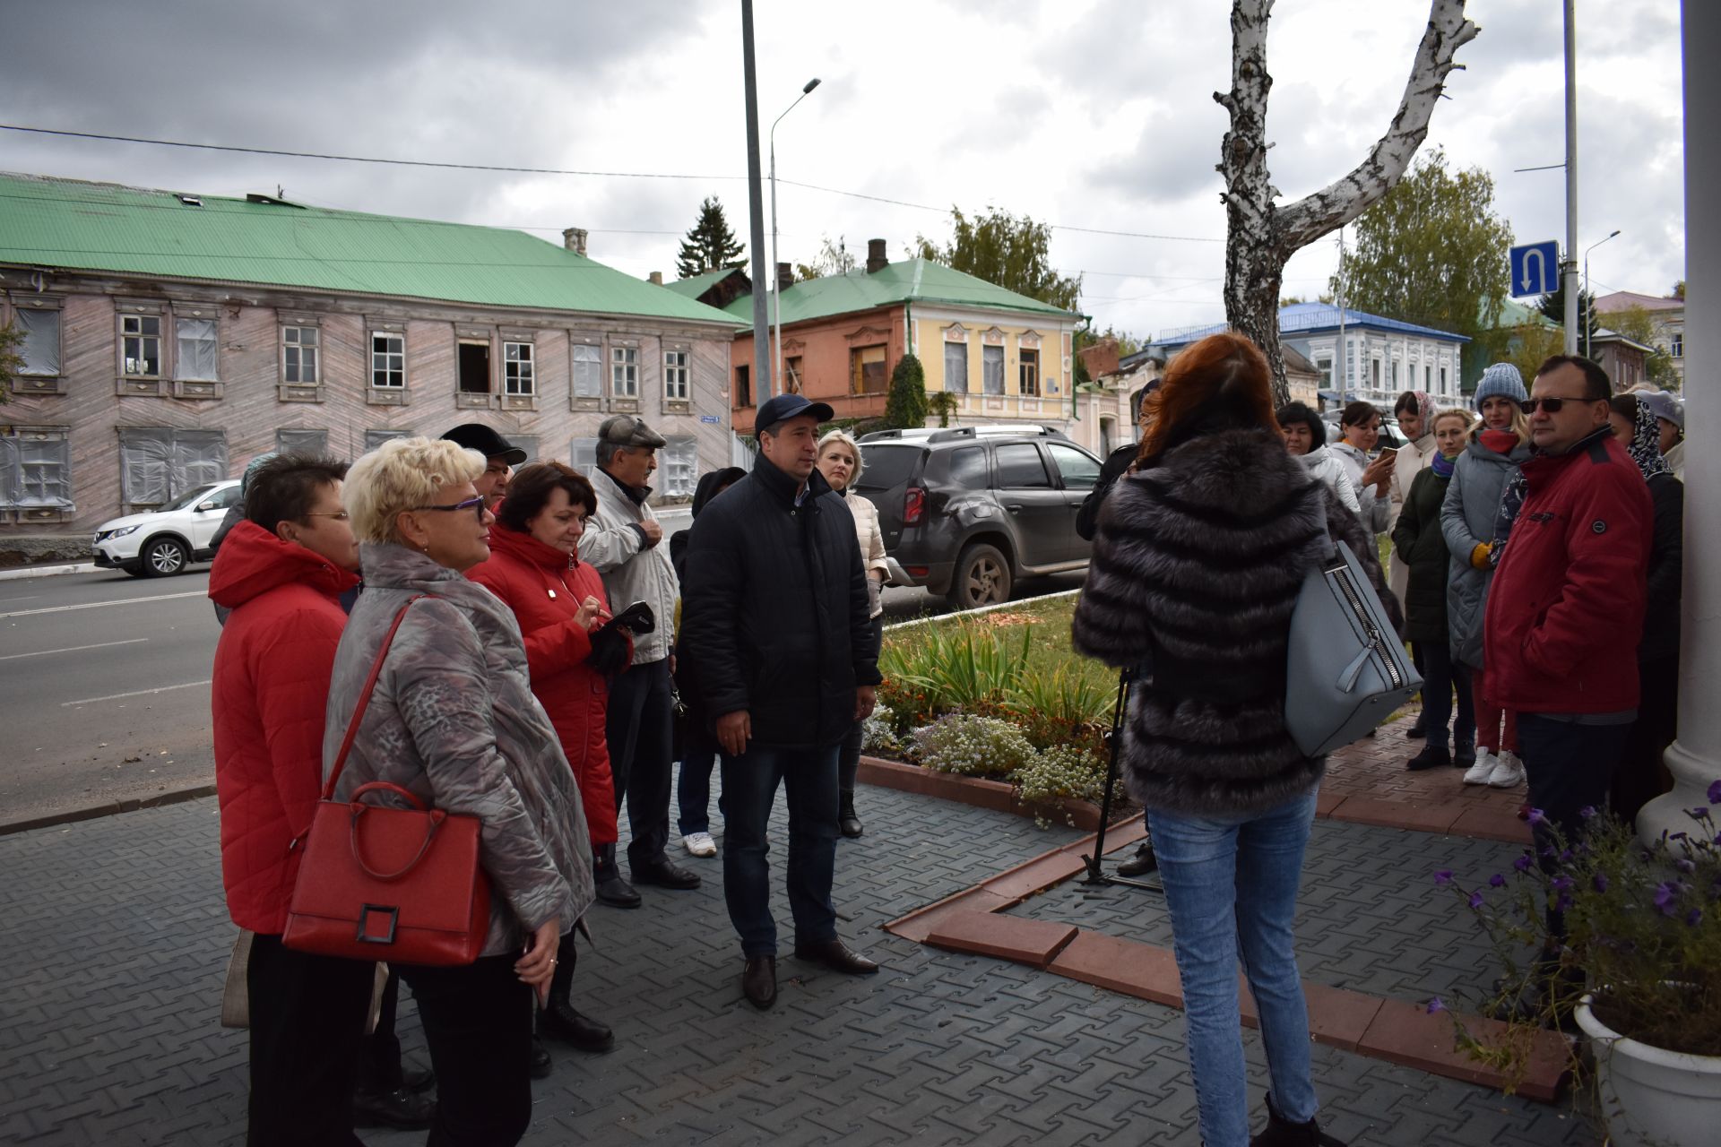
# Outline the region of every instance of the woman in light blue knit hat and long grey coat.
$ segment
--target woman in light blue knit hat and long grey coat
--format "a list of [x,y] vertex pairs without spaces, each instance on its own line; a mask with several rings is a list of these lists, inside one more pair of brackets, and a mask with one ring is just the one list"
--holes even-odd
[[1523,782],[1518,762],[1514,715],[1482,700],[1482,619],[1487,612],[1494,566],[1494,523],[1501,494],[1520,463],[1530,457],[1530,428],[1518,402],[1525,397],[1523,377],[1511,363],[1496,363],[1477,383],[1475,404],[1482,423],[1458,456],[1453,481],[1440,507],[1440,533],[1451,564],[1446,583],[1446,619],[1453,655],[1471,669],[1477,710],[1477,764],[1465,772],[1465,784],[1499,789]]

